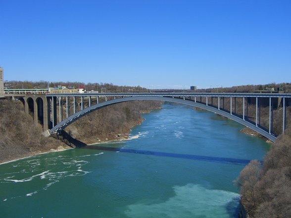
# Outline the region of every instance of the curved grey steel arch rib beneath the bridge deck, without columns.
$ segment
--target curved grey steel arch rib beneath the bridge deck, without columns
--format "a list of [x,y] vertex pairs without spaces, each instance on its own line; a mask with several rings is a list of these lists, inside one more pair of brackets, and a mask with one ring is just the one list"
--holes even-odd
[[49,132],[50,132],[50,134],[55,134],[57,131],[65,129],[68,125],[77,121],[81,117],[83,117],[89,113],[92,113],[93,111],[96,111],[100,108],[103,108],[103,107],[106,107],[109,105],[113,105],[113,104],[117,104],[117,103],[121,103],[121,102],[135,101],[135,100],[159,100],[159,101],[186,104],[186,105],[190,105],[193,107],[201,108],[201,109],[222,115],[222,116],[227,117],[231,120],[234,120],[234,121],[250,128],[250,129],[262,134],[263,136],[267,137],[271,141],[275,141],[277,139],[276,135],[270,134],[269,132],[267,132],[263,128],[256,126],[256,125],[254,125],[254,124],[252,124],[252,123],[250,123],[250,122],[248,122],[248,121],[246,121],[246,120],[244,120],[244,119],[242,119],[234,114],[230,114],[227,111],[220,110],[219,108],[215,108],[213,106],[208,106],[207,104],[204,104],[204,103],[195,102],[193,100],[183,99],[183,98],[174,98],[174,97],[169,97],[169,96],[131,96],[131,97],[125,97],[125,98],[119,98],[119,99],[114,99],[114,100],[110,100],[110,101],[105,101],[105,102],[93,105],[91,107],[88,107],[86,109],[83,109],[83,110],[69,116],[68,118],[66,118],[65,120],[63,120],[62,122],[60,122],[59,124],[54,126],[51,130],[49,130]]

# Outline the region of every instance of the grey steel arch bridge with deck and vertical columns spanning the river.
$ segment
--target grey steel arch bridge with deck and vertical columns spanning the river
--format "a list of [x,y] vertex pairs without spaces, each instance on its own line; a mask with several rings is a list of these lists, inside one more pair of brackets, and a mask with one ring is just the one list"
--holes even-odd
[[[193,107],[201,108],[219,115],[222,115],[224,117],[227,117],[229,119],[232,119],[258,133],[265,136],[266,138],[270,139],[271,141],[275,141],[277,139],[277,135],[274,134],[271,129],[273,126],[273,118],[272,118],[272,100],[271,99],[278,99],[282,101],[283,105],[283,132],[286,128],[286,99],[288,100],[291,98],[290,93],[84,93],[84,94],[47,94],[48,102],[48,110],[51,108],[52,113],[52,128],[49,130],[50,134],[55,134],[59,130],[63,130],[71,123],[75,122],[76,120],[80,119],[81,117],[98,110],[100,108],[117,104],[120,102],[126,102],[126,101],[135,101],[135,100],[159,100],[159,101],[165,101],[165,102],[175,102],[180,104],[186,104]],[[105,97],[105,101],[102,103],[99,103],[98,99],[99,97]],[[107,101],[107,96],[113,96],[113,100]],[[66,118],[61,119],[62,115],[62,98],[66,98]],[[69,114],[69,98],[73,97],[73,103],[74,103],[74,113],[72,115]],[[75,110],[75,101],[77,97],[81,97],[81,110],[79,112],[76,112]],[[84,98],[89,98],[89,107],[84,107]],[[91,98],[97,97],[97,104],[91,106]],[[206,102],[202,102],[201,98],[204,97],[206,99]],[[208,98],[209,97],[217,97],[218,98],[218,105],[214,106],[212,104],[208,104]],[[230,111],[225,110],[224,108],[220,107],[220,98],[229,97],[230,98]],[[237,115],[233,113],[233,98],[242,97],[243,99],[243,111],[242,115]],[[250,121],[247,119],[247,115],[245,116],[245,109],[244,109],[244,98],[255,98],[256,99],[256,118],[255,122]],[[258,123],[258,98],[269,98],[269,129],[265,129]],[[57,98],[59,100],[59,123],[56,122],[56,104],[57,104]],[[200,98],[200,101],[198,101],[198,98]],[[274,101],[274,100],[273,100]],[[52,105],[50,105],[52,104]]]

